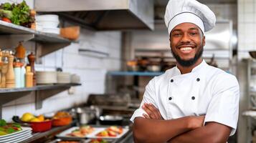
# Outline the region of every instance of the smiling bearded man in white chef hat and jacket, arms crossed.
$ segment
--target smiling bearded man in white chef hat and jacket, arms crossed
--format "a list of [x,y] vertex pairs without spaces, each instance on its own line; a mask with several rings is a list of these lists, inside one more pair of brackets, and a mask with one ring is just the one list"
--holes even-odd
[[177,64],[146,86],[131,117],[135,142],[221,143],[237,129],[236,77],[202,59],[214,13],[196,0],[170,0],[164,16]]

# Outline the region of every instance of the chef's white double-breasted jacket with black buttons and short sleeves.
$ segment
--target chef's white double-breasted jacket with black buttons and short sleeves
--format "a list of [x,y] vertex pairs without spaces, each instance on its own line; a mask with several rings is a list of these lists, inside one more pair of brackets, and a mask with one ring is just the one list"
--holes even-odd
[[146,86],[141,107],[131,121],[143,117],[142,105],[153,104],[163,119],[176,119],[205,114],[206,122],[218,122],[237,129],[240,89],[236,77],[222,69],[209,66],[204,60],[188,74],[177,66],[154,77]]

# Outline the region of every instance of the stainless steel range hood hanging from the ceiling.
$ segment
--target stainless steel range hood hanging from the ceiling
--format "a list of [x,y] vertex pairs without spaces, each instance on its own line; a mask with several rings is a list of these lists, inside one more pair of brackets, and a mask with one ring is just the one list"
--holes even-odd
[[153,0],[35,0],[39,13],[54,13],[96,30],[153,30]]

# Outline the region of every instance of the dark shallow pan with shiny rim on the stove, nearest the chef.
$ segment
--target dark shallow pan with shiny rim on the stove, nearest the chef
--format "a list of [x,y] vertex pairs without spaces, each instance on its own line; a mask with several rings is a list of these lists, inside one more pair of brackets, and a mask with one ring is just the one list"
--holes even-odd
[[99,118],[100,124],[105,125],[121,125],[123,122],[123,117],[118,115],[104,115]]

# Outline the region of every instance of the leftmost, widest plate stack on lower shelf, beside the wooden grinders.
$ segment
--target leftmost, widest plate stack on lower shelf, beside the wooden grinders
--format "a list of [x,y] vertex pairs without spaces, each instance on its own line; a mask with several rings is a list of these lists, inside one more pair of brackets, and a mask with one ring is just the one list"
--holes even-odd
[[56,71],[37,71],[37,84],[56,84]]

